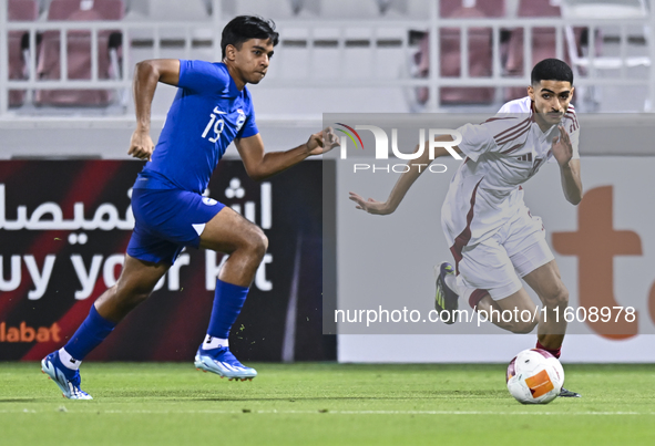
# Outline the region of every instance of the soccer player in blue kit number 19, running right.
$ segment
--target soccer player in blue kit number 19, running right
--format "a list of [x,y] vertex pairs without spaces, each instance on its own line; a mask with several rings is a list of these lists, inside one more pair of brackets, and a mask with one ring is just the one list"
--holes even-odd
[[[231,353],[227,338],[268,240],[259,227],[202,194],[232,142],[248,176],[256,180],[338,145],[334,132],[326,128],[296,148],[264,153],[246,84],[264,79],[277,41],[273,22],[240,15],[223,30],[222,62],[150,60],[136,64],[136,129],[127,153],[147,160],[132,193],[136,224],[116,284],[94,302],[69,342],[41,362],[65,397],[91,400],[80,388],[80,363],[149,298],[185,246],[229,255],[216,281],[209,326],[195,366],[231,380],[257,376]],[[150,108],[158,82],[178,90],[154,147]]]

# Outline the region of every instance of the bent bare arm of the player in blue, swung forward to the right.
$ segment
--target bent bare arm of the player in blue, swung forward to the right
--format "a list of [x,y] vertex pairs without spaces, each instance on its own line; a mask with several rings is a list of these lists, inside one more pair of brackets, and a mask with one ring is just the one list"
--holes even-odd
[[234,139],[246,173],[256,181],[266,179],[288,169],[313,155],[321,155],[339,145],[335,132],[327,127],[309,136],[307,143],[285,152],[264,152],[264,142],[259,134]]

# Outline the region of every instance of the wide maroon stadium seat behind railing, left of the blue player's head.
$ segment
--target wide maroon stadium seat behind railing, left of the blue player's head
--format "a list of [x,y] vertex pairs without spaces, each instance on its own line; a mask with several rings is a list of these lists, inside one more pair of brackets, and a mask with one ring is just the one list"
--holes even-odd
[[[68,20],[121,20],[124,7],[121,0],[52,0],[49,21]],[[98,79],[117,79],[122,53],[122,34],[119,31],[98,32]],[[91,32],[69,31],[68,79],[91,79]],[[60,32],[43,33],[39,53],[40,80],[61,79]],[[35,105],[105,106],[113,100],[112,90],[39,90]]]

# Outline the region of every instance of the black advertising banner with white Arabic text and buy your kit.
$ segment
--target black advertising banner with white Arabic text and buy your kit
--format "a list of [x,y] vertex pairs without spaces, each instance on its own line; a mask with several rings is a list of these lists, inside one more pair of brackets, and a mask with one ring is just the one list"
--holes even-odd
[[[143,164],[0,162],[0,360],[62,346],[120,274],[134,225],[130,195]],[[244,361],[334,359],[321,335],[321,165],[264,183],[223,160],[207,190],[259,225],[269,248],[231,333]],[[89,360],[192,361],[223,255],[187,248]],[[331,342],[330,342],[331,341]]]

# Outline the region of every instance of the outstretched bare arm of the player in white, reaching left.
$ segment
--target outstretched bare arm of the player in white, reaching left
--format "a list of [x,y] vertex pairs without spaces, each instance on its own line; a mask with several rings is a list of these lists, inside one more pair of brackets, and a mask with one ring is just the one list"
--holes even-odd
[[[434,141],[453,141],[450,135],[441,135],[434,138]],[[420,146],[417,145],[415,153],[419,151]],[[452,148],[458,153],[461,154],[462,152],[458,146],[452,146]],[[434,159],[440,156],[450,155],[446,147],[436,147],[434,148]],[[372,198],[365,200],[362,197],[355,193],[350,193],[350,199],[357,204],[356,208],[366,210],[369,214],[376,215],[387,215],[393,212],[400,201],[405,198],[405,195],[411,187],[411,185],[418,179],[418,177],[428,168],[434,159],[430,159],[430,151],[429,151],[429,142],[423,143],[423,153],[417,159],[410,160],[407,165],[409,169],[403,172],[396,181],[396,186],[389,194],[389,198],[386,201],[377,201]]]

